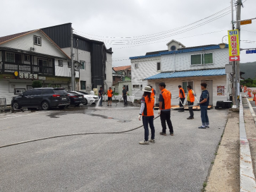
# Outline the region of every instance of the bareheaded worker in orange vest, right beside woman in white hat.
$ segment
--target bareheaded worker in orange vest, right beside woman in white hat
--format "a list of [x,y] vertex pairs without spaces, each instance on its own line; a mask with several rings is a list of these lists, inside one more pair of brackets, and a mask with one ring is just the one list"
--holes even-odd
[[159,90],[161,91],[159,95],[159,110],[162,132],[160,135],[166,135],[166,123],[170,131],[170,135],[173,136],[173,124],[171,123],[171,92],[166,90],[165,83],[159,83]]

